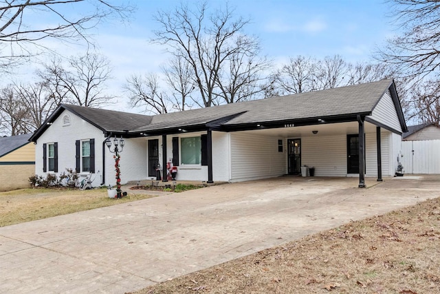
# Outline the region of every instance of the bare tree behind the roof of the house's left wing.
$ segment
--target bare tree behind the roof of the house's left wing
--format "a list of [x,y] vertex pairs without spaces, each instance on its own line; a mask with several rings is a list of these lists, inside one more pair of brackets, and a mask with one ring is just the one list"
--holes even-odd
[[104,94],[105,83],[111,78],[108,59],[87,54],[72,57],[67,63],[69,70],[59,59],[52,59],[39,72],[58,101],[85,107],[99,107],[111,101],[113,96]]

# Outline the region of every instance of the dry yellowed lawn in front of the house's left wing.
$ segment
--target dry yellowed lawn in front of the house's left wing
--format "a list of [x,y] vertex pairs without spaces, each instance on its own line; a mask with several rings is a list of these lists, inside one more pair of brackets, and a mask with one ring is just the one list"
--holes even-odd
[[124,198],[113,199],[107,196],[107,189],[20,189],[0,192],[0,227],[151,197],[155,196],[129,193]]

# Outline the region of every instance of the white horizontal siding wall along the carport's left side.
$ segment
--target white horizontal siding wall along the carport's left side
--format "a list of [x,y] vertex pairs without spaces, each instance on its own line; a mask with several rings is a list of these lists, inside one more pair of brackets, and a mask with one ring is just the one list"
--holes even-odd
[[278,137],[230,133],[232,182],[285,174],[285,149],[278,152]]

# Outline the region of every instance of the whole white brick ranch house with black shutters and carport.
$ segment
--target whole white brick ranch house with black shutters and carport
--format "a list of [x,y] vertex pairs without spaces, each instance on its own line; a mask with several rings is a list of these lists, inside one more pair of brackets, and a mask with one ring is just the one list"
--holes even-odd
[[[393,80],[144,116],[61,105],[30,138],[36,174],[76,168],[115,185],[105,140],[124,138],[122,183],[173,162],[177,180],[237,182],[299,174],[394,176],[406,123]],[[166,169],[162,169],[166,180]]]

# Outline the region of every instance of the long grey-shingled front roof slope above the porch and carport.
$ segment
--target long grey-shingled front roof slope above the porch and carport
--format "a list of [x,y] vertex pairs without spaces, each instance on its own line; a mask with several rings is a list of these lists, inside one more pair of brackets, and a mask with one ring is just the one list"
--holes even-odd
[[151,123],[138,127],[136,130],[148,131],[197,125],[240,113],[224,125],[369,113],[373,111],[391,83],[392,80],[382,80],[316,92],[160,114],[153,116]]

